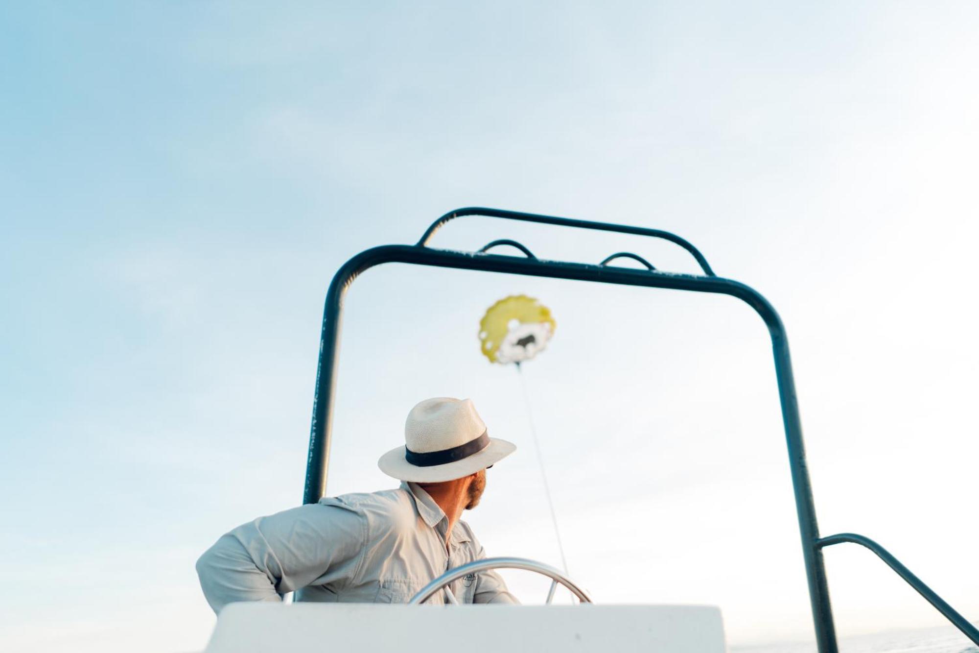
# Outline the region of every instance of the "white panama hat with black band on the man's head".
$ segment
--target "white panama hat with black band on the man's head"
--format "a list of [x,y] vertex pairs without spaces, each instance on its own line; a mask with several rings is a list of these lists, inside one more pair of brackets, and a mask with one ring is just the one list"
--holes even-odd
[[377,466],[398,480],[437,483],[485,470],[516,448],[489,437],[471,400],[435,397],[411,409],[404,422],[404,446],[381,456]]

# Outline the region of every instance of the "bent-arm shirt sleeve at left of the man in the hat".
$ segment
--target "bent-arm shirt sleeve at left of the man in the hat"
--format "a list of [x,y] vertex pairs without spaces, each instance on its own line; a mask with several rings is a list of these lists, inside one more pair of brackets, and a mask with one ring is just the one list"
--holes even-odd
[[365,539],[363,515],[337,499],[259,517],[205,551],[201,589],[215,613],[236,601],[280,601],[314,580],[342,589],[359,570]]

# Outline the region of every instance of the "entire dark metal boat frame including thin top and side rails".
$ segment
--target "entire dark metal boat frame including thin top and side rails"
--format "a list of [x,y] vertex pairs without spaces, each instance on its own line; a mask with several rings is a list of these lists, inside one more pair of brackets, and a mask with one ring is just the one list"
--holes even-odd
[[[567,263],[537,259],[526,247],[509,240],[494,240],[478,252],[455,252],[428,247],[428,242],[445,223],[462,216],[485,216],[538,223],[555,226],[574,226],[578,228],[617,231],[661,238],[676,243],[687,250],[697,261],[703,276],[679,275],[657,271],[645,259],[629,252],[619,252],[608,257],[599,265]],[[510,245],[521,250],[524,256],[504,256],[489,254],[487,250],[496,245]],[[619,257],[628,257],[642,263],[646,270],[609,266],[608,263]],[[796,400],[795,381],[792,377],[792,363],[789,358],[789,345],[785,327],[775,309],[753,288],[731,279],[714,274],[704,256],[692,244],[679,236],[640,226],[612,225],[569,218],[556,218],[499,209],[466,208],[446,213],[425,231],[415,245],[384,245],[357,254],[350,259],[333,277],[326,295],[323,311],[319,365],[316,371],[316,393],[313,399],[312,426],[309,433],[309,454],[306,462],[303,503],[315,503],[326,490],[326,476],[330,461],[330,441],[332,437],[333,405],[337,383],[337,350],[340,344],[341,317],[344,295],[350,283],[365,270],[384,263],[408,263],[458,270],[479,270],[484,272],[511,275],[545,276],[579,281],[597,281],[653,288],[673,288],[731,295],[741,299],[762,317],[769,327],[771,348],[774,354],[775,377],[778,396],[781,400],[782,422],[785,427],[785,440],[788,445],[789,466],[792,471],[792,486],[795,491],[796,513],[799,531],[802,535],[803,558],[809,580],[810,603],[816,628],[816,642],[820,653],[836,653],[836,632],[829,604],[829,591],[826,586],[825,566],[822,549],[841,542],[854,542],[870,549],[891,567],[901,578],[918,591],[939,612],[945,615],[956,628],[976,644],[979,644],[979,629],[959,615],[948,603],[943,601],[908,568],[898,562],[883,547],[867,537],[854,533],[839,533],[819,537],[816,526],[816,507],[813,502],[813,489],[806,465],[806,451],[803,446],[802,424],[799,420],[799,406]]]

